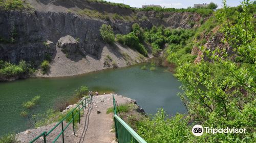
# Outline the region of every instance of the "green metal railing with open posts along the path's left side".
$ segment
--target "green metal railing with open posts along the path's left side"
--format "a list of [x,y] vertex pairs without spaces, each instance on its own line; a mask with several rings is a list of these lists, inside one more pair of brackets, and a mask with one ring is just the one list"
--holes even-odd
[[[89,108],[89,104],[93,102],[93,96],[89,96],[88,98],[83,99],[74,109],[72,109],[71,111],[69,111],[69,113],[62,118],[62,120],[56,124],[49,132],[42,132],[41,134],[39,134],[37,137],[35,137],[33,140],[30,141],[30,143],[36,141],[38,138],[40,138],[41,136],[44,137],[44,143],[46,143],[46,137],[54,130],[56,129],[60,124],[61,124],[61,132],[54,138],[54,140],[52,142],[56,142],[57,139],[60,137],[60,135],[62,135],[62,142],[64,142],[64,131],[69,127],[69,125],[71,123],[73,123],[73,134],[75,135],[75,117],[78,115],[78,121],[80,124],[80,115],[81,115],[81,110],[82,110],[82,114],[83,114],[83,107],[87,107]],[[80,108],[81,105],[81,108]],[[78,109],[78,112],[74,115],[75,111]],[[72,120],[65,126],[63,127],[63,122],[72,114]]]

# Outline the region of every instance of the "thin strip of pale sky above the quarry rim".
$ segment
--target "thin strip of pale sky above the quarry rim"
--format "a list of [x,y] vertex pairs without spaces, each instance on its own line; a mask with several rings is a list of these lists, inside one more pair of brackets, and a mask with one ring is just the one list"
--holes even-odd
[[[214,2],[218,5],[218,8],[222,7],[222,0],[105,0],[114,3],[124,3],[126,5],[130,5],[131,7],[141,7],[141,5],[160,5],[166,8],[187,8],[193,7],[194,4],[203,4],[210,2]],[[228,6],[238,6],[242,0],[227,0]]]

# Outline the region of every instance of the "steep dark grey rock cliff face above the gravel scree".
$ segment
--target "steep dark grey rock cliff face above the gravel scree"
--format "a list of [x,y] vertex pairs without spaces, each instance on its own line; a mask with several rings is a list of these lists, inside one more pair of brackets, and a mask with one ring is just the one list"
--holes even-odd
[[[42,60],[54,57],[57,41],[61,37],[74,37],[85,55],[100,57],[103,43],[99,29],[103,23],[111,25],[115,34],[131,32],[133,23],[142,28],[152,26],[169,28],[191,28],[190,21],[199,21],[196,13],[158,13],[154,11],[132,11],[110,5],[81,1],[28,1],[35,8],[33,12],[0,11],[0,60],[18,63],[31,61],[38,65]],[[39,5],[40,2],[40,5]],[[68,8],[91,8],[99,12],[111,12],[118,15],[136,15],[134,20],[113,20],[83,17],[73,12],[64,12]],[[49,8],[49,9],[47,9]],[[4,42],[3,42],[4,41]],[[11,41],[11,42],[10,42]],[[49,41],[51,44],[46,44]]]

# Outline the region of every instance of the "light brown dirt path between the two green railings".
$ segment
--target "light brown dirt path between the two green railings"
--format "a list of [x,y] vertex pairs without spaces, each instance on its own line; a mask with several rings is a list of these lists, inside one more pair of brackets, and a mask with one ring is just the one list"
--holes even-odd
[[[115,133],[110,132],[113,127],[113,113],[106,114],[106,110],[113,107],[112,99],[112,94],[94,97],[94,103],[82,117],[75,142],[110,143],[115,139]],[[115,96],[115,99],[118,104],[131,102],[131,99],[122,96]],[[101,113],[98,114],[97,111]]]

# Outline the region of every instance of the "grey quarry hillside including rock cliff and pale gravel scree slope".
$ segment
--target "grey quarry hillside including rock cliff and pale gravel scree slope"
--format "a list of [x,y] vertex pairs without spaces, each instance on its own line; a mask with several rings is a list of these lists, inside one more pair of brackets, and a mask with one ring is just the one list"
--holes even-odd
[[[146,59],[137,51],[129,50],[130,47],[104,43],[99,31],[103,24],[111,25],[115,34],[127,34],[132,31],[133,23],[139,23],[143,29],[151,29],[153,26],[190,29],[199,27],[200,21],[207,19],[196,12],[140,11],[125,5],[97,1],[28,0],[23,5],[25,8],[1,8],[0,59],[16,64],[25,60],[32,65],[39,65],[46,59],[53,60],[52,67],[45,76],[76,75],[104,68],[127,66]],[[58,40],[67,35],[77,41],[79,52],[73,57],[69,53],[67,55],[57,50]],[[150,46],[145,46],[150,49]],[[61,54],[65,54],[66,58],[58,56]],[[106,60],[107,55],[114,59],[112,63]],[[81,60],[87,61],[87,64],[77,64]],[[55,63],[62,63],[61,67],[79,71],[70,73],[69,70],[63,69],[61,74],[58,73],[58,67],[54,66]]]

